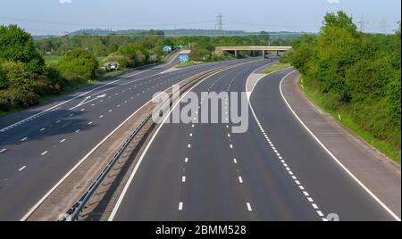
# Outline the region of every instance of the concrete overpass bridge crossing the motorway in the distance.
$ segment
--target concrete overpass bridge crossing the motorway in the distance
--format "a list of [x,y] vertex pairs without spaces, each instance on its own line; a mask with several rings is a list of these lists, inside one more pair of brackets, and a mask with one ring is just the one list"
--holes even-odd
[[265,58],[266,53],[274,52],[279,55],[281,52],[286,52],[291,49],[291,46],[275,46],[275,45],[241,45],[241,46],[216,46],[215,54],[223,54],[224,52],[232,53],[236,58],[239,56],[239,51],[262,51]]

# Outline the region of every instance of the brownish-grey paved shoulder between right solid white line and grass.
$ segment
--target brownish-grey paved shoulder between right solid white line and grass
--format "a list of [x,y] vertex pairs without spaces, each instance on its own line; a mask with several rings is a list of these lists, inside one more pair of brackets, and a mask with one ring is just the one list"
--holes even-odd
[[338,161],[400,218],[400,167],[321,111],[299,88],[299,79],[295,71],[281,83],[289,106]]

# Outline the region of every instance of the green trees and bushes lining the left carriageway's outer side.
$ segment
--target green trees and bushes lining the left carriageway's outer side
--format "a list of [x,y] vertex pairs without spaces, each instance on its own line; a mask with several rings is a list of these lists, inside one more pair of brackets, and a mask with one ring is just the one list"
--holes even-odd
[[[132,41],[130,37],[71,37],[66,57],[46,64],[44,52],[64,54],[63,38],[33,38],[16,25],[0,26],[0,113],[38,104],[42,98],[85,86],[105,71],[96,56],[108,54],[107,61],[121,62],[122,68],[150,62],[157,41],[147,36]],[[163,43],[159,43],[162,49]],[[154,53],[155,54],[155,53]],[[157,61],[156,59],[155,61]]]

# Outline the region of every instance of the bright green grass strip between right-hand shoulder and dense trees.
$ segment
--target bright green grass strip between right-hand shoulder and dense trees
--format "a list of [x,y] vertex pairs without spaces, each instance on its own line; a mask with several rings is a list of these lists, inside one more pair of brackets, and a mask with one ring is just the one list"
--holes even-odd
[[354,122],[352,119],[350,112],[346,108],[340,108],[338,111],[333,111],[328,107],[325,107],[326,97],[322,95],[320,92],[303,85],[303,76],[300,79],[300,86],[303,92],[310,98],[315,104],[317,104],[322,111],[325,111],[331,116],[336,119],[341,125],[345,126],[346,128],[350,129],[354,132],[357,136],[360,136],[364,139],[368,144],[371,144],[375,149],[384,153],[389,157],[392,161],[395,161],[400,165],[401,160],[401,153],[389,144],[387,141],[382,141],[376,139],[375,137],[371,136],[368,132],[364,131],[363,129],[359,128],[359,126]]

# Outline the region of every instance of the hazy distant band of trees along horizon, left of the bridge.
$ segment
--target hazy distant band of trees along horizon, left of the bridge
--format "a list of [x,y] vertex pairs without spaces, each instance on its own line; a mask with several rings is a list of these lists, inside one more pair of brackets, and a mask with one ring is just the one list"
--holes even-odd
[[[51,37],[38,39],[35,46],[44,55],[63,55],[66,48],[84,48],[96,57],[120,54],[120,47],[123,45],[137,45],[147,49],[148,55],[153,56],[157,61],[161,61],[163,45],[191,47],[194,50],[192,60],[194,61],[214,61],[214,47],[217,45],[289,45],[292,39],[272,40],[269,34],[262,32],[262,35],[249,35],[245,37],[163,37],[161,30],[148,30],[138,33],[136,36],[71,36]],[[121,56],[119,56],[121,58]],[[123,63],[125,64],[125,63]]]

